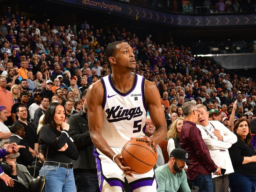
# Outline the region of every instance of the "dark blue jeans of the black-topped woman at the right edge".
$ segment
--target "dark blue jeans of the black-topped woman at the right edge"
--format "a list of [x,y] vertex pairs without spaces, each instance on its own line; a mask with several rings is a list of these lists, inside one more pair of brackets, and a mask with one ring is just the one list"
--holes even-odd
[[232,192],[255,192],[256,191],[256,176],[247,177],[239,173],[231,173],[229,176],[229,184]]

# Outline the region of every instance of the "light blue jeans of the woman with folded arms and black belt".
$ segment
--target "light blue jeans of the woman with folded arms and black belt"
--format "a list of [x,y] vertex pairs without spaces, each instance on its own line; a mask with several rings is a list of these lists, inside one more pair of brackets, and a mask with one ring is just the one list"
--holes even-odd
[[44,175],[45,185],[43,192],[72,192],[76,191],[73,169],[44,165],[39,175]]

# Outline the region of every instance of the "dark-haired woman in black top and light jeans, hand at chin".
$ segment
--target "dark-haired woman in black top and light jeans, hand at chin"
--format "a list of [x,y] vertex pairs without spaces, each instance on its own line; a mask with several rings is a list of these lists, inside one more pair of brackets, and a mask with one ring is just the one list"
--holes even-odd
[[40,144],[46,158],[40,175],[45,176],[45,192],[76,191],[71,159],[78,159],[74,141],[69,137],[65,123],[66,110],[58,102],[49,105],[40,129]]

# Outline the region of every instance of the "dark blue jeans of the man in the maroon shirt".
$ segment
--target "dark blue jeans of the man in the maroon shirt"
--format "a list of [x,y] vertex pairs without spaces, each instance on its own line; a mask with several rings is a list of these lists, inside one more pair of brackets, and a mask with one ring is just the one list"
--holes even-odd
[[199,174],[190,182],[192,186],[199,187],[199,192],[213,192],[212,175]]

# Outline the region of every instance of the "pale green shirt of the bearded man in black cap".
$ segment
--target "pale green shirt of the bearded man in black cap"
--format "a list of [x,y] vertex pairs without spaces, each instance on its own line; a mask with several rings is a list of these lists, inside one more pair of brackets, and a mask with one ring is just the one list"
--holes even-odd
[[158,184],[157,192],[190,192],[188,187],[187,174],[183,169],[181,173],[173,174],[168,164],[162,165],[155,170]]

